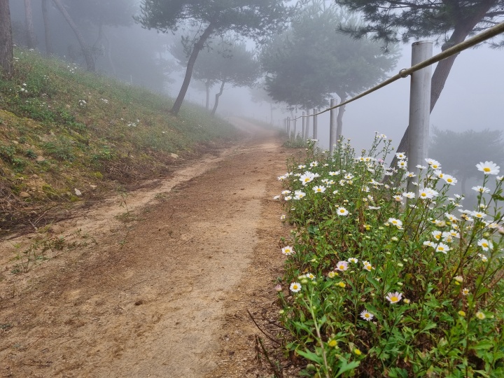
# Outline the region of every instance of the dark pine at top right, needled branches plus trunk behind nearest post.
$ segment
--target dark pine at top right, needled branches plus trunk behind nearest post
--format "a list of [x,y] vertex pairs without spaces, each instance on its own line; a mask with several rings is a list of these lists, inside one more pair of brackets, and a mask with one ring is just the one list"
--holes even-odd
[[[442,50],[495,25],[504,16],[504,0],[335,0],[335,3],[362,15],[363,25],[340,27],[355,38],[370,36],[384,41],[385,45],[429,38],[441,44]],[[435,68],[430,111],[440,97],[456,57],[442,60]],[[398,151],[408,151],[408,148],[407,129]]]

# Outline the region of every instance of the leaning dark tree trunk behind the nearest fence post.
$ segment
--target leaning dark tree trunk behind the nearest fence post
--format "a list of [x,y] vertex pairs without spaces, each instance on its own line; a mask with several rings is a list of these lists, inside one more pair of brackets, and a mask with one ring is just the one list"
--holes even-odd
[[[461,43],[467,38],[469,33],[474,29],[479,21],[482,20],[486,12],[494,5],[495,0],[484,0],[479,4],[479,10],[472,14],[469,19],[464,19],[458,22],[454,28],[454,32],[451,34],[447,43],[442,45],[441,50],[444,51],[457,43]],[[440,98],[441,92],[444,88],[444,84],[448,78],[451,67],[453,66],[457,55],[453,55],[447,59],[443,59],[441,62],[437,63],[436,69],[430,80],[430,112],[432,113],[437,100]],[[400,144],[397,151],[408,153],[409,152],[409,126],[406,128],[405,134],[402,136]],[[394,167],[396,164],[396,158],[393,158],[391,166]]]

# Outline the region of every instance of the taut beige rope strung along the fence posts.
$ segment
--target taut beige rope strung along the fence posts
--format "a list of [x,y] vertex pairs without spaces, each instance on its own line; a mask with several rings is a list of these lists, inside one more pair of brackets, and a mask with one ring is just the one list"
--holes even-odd
[[393,83],[394,81],[399,80],[400,78],[407,78],[407,76],[411,75],[412,73],[419,71],[420,69],[425,68],[426,66],[430,66],[430,64],[434,64],[437,62],[440,62],[442,59],[446,59],[447,57],[451,57],[452,55],[458,54],[458,52],[461,52],[463,50],[467,50],[468,48],[472,48],[472,46],[477,45],[478,43],[482,43],[486,41],[487,39],[493,38],[494,36],[504,33],[504,22],[500,22],[500,24],[497,24],[489,29],[486,29],[485,31],[482,31],[482,33],[479,33],[469,39],[466,39],[465,41],[458,43],[457,45],[451,46],[451,48],[447,48],[446,50],[440,52],[439,54],[424,60],[423,62],[420,62],[419,64],[415,64],[412,67],[409,67],[409,69],[401,69],[399,73],[395,76],[392,76],[391,78],[388,78],[387,80],[383,81],[382,83],[379,83],[378,85],[372,87],[369,90],[366,90],[365,92],[362,92],[358,94],[356,97],[352,97],[349,100],[346,100],[345,102],[342,102],[341,104],[332,106],[332,108],[325,109],[323,111],[320,111],[315,114],[311,114],[310,116],[299,116],[297,118],[292,118],[291,120],[298,120],[300,118],[308,118],[308,117],[313,117],[313,116],[318,116],[319,114],[325,113],[326,111],[330,111],[332,109],[339,108],[339,106],[343,106],[346,104],[349,104],[350,102],[355,101],[356,99],[360,99],[361,97],[367,96],[367,94],[370,94],[376,90],[379,90],[382,87],[385,87],[388,84]]

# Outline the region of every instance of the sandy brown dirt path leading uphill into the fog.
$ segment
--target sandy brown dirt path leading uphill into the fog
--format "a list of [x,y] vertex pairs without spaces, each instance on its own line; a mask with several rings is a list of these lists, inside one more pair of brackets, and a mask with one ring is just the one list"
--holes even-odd
[[27,273],[0,244],[0,377],[266,377],[246,309],[274,301],[286,151],[253,136],[55,226],[78,248]]

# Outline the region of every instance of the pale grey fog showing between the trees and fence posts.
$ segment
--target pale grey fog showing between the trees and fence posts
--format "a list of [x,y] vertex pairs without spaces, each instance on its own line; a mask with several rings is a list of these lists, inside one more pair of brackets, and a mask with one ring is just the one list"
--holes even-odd
[[[38,3],[33,2],[37,49],[43,51],[43,25]],[[15,42],[26,43],[24,31],[25,10],[22,1],[10,1]],[[55,54],[81,64],[80,48],[76,38],[62,15],[51,5],[49,16]],[[174,61],[169,46],[180,42],[180,35],[160,34],[142,29],[132,18],[125,18],[125,25],[102,27],[105,38],[98,38],[96,25],[85,19],[77,19],[87,43],[94,45],[97,72],[148,87],[176,97],[179,93],[185,68]],[[248,45],[253,46],[252,43]],[[435,46],[434,54],[440,52]],[[410,45],[402,45],[402,57],[389,73],[393,76],[400,69],[411,66]],[[504,51],[492,50],[487,45],[465,50],[456,58],[433,113],[430,125],[445,130],[504,130]],[[432,67],[435,69],[435,66]],[[363,99],[348,104],[343,118],[343,135],[352,140],[357,151],[367,148],[374,132],[386,134],[398,146],[405,131],[409,111],[409,78],[404,78],[374,92]],[[218,87],[211,90],[210,106]],[[204,106],[204,85],[192,80],[186,102]],[[221,116],[245,116],[281,127],[283,118],[290,116],[283,104],[275,105],[273,116],[270,105],[251,101],[248,88],[231,88],[221,96],[217,113]],[[211,108],[210,108],[211,109]],[[302,111],[297,110],[295,116]],[[300,130],[301,120],[297,122]],[[312,121],[311,121],[312,122]],[[312,123],[311,123],[312,125]],[[328,148],[329,113],[318,116],[320,145]],[[311,135],[310,135],[311,137]]]

